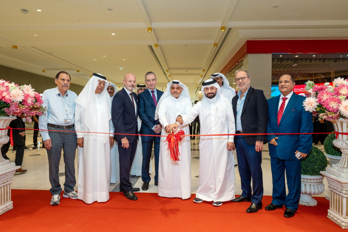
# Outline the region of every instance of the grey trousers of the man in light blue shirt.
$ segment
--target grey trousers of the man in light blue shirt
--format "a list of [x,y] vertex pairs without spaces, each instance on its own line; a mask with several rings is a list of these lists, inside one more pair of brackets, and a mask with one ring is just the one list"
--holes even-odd
[[52,193],[52,195],[59,195],[62,192],[58,173],[63,149],[63,159],[65,164],[64,191],[72,192],[74,191],[74,186],[76,185],[75,153],[77,148],[77,136],[76,132],[63,131],[75,131],[75,127],[70,129],[59,129],[48,126],[48,130],[57,130],[48,132],[52,141],[51,150],[46,149],[49,167],[49,182],[52,186],[49,191]]

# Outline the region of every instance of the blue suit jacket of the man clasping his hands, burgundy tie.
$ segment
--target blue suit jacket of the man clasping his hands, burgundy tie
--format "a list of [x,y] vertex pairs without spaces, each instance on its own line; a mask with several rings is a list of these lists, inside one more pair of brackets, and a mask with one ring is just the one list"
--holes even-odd
[[[162,97],[163,92],[157,91],[157,102]],[[156,106],[153,102],[151,93],[149,90],[145,90],[138,95],[139,103],[139,117],[141,119],[140,134],[150,134],[153,133],[152,127],[157,125],[159,122],[155,120]]]

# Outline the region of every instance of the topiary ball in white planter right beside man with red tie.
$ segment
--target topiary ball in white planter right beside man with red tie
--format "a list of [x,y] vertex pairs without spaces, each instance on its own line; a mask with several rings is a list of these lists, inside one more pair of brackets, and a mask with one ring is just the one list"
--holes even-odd
[[302,160],[301,167],[301,205],[316,206],[317,201],[311,195],[324,192],[323,176],[320,171],[325,171],[327,159],[324,153],[317,147],[312,147],[308,156]]

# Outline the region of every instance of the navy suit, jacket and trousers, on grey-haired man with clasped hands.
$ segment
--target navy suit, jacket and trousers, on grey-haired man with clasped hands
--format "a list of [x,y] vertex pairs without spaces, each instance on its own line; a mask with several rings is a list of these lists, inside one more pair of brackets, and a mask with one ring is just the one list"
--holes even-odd
[[[157,91],[157,102],[161,98],[163,92]],[[148,135],[161,135],[161,133],[156,134],[152,128],[159,124],[158,120],[155,120],[155,111],[156,106],[153,102],[152,96],[149,90],[138,95],[139,103],[139,117],[141,119],[140,134]],[[143,182],[150,182],[151,178],[149,175],[150,161],[151,161],[151,152],[152,146],[154,144],[154,153],[155,153],[155,182],[158,182],[158,163],[159,163],[159,136],[141,136],[141,143],[143,145],[143,163],[141,167],[141,179]]]

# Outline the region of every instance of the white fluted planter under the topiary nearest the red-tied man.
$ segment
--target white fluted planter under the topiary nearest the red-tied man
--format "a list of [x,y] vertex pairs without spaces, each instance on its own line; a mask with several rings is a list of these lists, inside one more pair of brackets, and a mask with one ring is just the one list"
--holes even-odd
[[324,192],[323,176],[301,175],[301,196],[300,205],[316,206],[317,201],[312,195],[318,195]]

